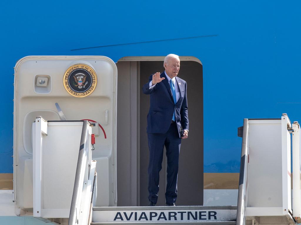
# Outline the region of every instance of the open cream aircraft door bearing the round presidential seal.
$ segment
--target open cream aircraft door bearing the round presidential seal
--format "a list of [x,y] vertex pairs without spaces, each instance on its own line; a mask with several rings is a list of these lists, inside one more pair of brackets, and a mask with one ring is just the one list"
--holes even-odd
[[96,205],[117,204],[116,85],[116,64],[105,56],[27,56],[17,62],[14,80],[16,214],[25,214],[33,207],[31,124],[37,116],[48,121],[86,119],[95,123],[92,157],[97,161]]

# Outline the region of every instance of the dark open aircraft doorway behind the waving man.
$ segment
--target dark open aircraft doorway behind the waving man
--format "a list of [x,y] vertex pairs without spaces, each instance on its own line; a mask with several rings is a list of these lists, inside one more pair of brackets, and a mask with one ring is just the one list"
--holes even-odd
[[[117,63],[117,205],[146,206],[149,95],[142,86],[164,71],[164,57],[124,57]],[[182,140],[177,205],[203,205],[203,66],[194,57],[180,57],[178,76],[187,82],[189,133]],[[165,150],[164,150],[165,151]],[[157,205],[165,205],[167,160],[164,153]]]

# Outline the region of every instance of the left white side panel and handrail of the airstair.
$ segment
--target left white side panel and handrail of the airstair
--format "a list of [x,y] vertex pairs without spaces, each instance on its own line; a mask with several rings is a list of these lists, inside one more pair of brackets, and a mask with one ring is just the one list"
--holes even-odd
[[[34,217],[60,224],[91,221],[97,196],[96,161],[92,160],[93,125],[88,121],[36,118],[33,123]],[[69,133],[73,135],[66,135]]]

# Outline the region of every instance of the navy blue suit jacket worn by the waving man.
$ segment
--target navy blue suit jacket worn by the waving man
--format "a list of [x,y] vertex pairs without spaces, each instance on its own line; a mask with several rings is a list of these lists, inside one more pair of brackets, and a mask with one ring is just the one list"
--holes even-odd
[[149,82],[153,79],[153,74],[150,76],[149,82],[142,87],[144,94],[151,95],[150,110],[147,115],[147,133],[166,133],[170,127],[175,111],[175,120],[179,137],[181,137],[181,126],[183,130],[189,129],[186,81],[175,77],[175,85],[178,85],[180,92],[180,98],[175,104],[165,73],[161,73],[160,77],[164,77],[165,79],[157,83],[154,88],[149,89]]

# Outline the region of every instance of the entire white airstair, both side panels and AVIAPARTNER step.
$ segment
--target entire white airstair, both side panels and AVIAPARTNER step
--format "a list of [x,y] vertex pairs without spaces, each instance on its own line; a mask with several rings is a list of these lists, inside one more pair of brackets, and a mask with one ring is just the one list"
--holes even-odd
[[[91,126],[93,124],[87,121],[45,121],[42,117],[36,118],[33,124],[34,165],[36,165],[34,217],[69,225],[162,223],[284,225],[300,221],[300,176],[293,177],[291,186],[290,168],[293,166],[293,174],[300,175],[301,132],[298,122],[291,124],[286,114],[279,119],[244,119],[244,126],[238,128],[238,136],[242,137],[243,141],[237,206],[96,207],[97,173],[96,162],[92,160],[91,155]],[[77,143],[80,146],[79,158],[73,195],[70,199],[71,209],[64,209],[59,207],[60,201],[55,198],[58,190],[51,190],[48,184],[46,185],[47,180],[44,180],[44,184],[40,182],[40,174],[45,173],[43,170],[51,169],[47,168],[46,158],[49,157],[49,153],[47,157],[43,157],[41,152],[45,154],[51,151],[52,147],[43,150],[43,146],[47,146],[45,144],[48,141],[57,142],[61,136],[60,130],[65,132],[66,129],[71,129],[76,133],[76,127],[81,130],[77,132],[81,134],[80,143]],[[50,135],[53,132],[55,135]],[[53,136],[57,140],[46,140],[47,136]],[[43,138],[44,145],[41,145]],[[74,140],[70,139],[67,143],[72,141]],[[46,163],[44,165],[40,160],[43,158]],[[51,170],[53,171],[53,168]],[[60,186],[57,188],[61,191]],[[45,196],[45,192],[49,196]],[[48,209],[46,205],[51,204],[52,209]],[[66,216],[65,212],[70,213]]]

